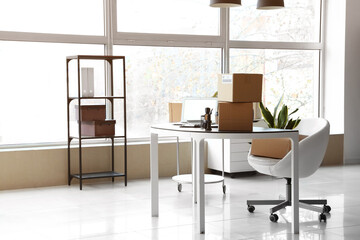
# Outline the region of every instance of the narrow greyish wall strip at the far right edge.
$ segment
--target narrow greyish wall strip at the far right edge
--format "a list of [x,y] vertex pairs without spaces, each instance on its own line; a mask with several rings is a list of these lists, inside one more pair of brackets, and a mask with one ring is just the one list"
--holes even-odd
[[345,163],[360,163],[360,1],[346,1]]

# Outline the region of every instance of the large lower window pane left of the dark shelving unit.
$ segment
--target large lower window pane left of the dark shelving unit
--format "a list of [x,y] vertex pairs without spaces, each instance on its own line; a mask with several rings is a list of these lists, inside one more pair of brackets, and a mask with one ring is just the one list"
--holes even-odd
[[0,41],[0,144],[66,141],[66,61],[102,45]]

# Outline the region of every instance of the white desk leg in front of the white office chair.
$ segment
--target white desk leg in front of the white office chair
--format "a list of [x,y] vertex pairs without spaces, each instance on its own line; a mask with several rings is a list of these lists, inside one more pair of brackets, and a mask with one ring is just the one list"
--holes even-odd
[[291,139],[291,178],[292,178],[292,232],[299,234],[299,137]]

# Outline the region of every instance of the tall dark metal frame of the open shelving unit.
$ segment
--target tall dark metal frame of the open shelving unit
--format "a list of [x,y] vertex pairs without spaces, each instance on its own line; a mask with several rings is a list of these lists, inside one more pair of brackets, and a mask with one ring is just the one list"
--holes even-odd
[[[81,96],[81,85],[80,85],[80,63],[81,60],[99,60],[104,61],[107,64],[106,70],[108,71],[107,76],[109,76],[108,83],[109,88],[106,93],[107,96],[94,96],[94,97],[82,97]],[[114,96],[114,80],[113,80],[113,62],[115,60],[120,60],[123,62],[123,96]],[[77,62],[77,96],[70,96],[69,93],[69,64],[71,61]],[[80,190],[82,190],[83,180],[86,179],[94,179],[94,178],[112,178],[114,182],[115,177],[124,177],[125,186],[127,186],[127,138],[126,138],[126,78],[125,78],[125,57],[124,56],[94,56],[94,55],[76,55],[76,56],[68,56],[66,58],[66,84],[67,84],[67,130],[68,130],[68,184],[70,185],[71,180],[73,178],[77,178],[80,181]],[[105,81],[104,81],[105,84]],[[105,86],[105,85],[104,85]],[[108,108],[108,113],[111,118],[114,118],[114,100],[122,99],[123,100],[123,108],[124,108],[124,134],[121,135],[112,135],[112,136],[83,136],[81,134],[81,109],[82,100],[86,99],[97,99],[97,100],[108,100],[110,102],[110,107]],[[78,136],[73,136],[70,133],[70,104],[72,101],[76,101],[78,108]],[[124,172],[118,173],[115,172],[115,159],[114,159],[114,140],[117,138],[124,139]],[[78,147],[79,147],[79,172],[71,173],[71,154],[70,154],[70,144],[71,141],[77,139]],[[82,141],[89,139],[111,139],[111,170],[106,172],[90,172],[83,173],[83,159],[82,159]]]

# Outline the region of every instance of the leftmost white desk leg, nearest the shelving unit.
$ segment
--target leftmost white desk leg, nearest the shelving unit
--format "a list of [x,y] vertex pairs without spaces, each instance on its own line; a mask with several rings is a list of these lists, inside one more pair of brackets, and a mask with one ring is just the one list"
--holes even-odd
[[151,215],[159,216],[159,143],[158,135],[151,133],[150,142]]

